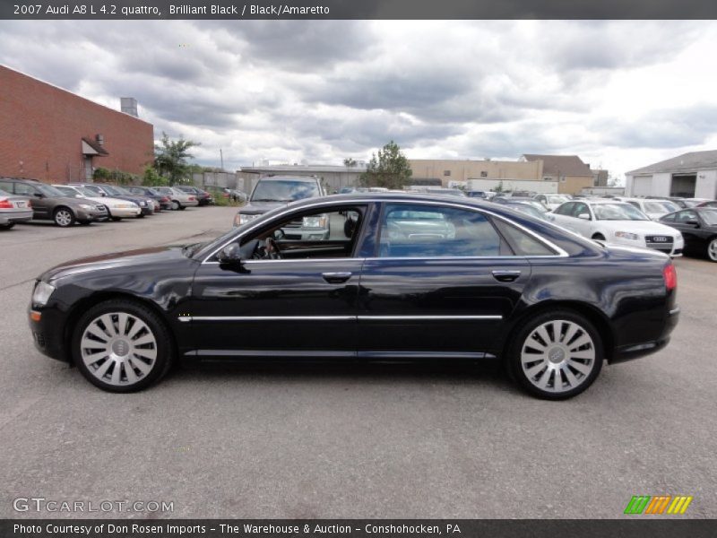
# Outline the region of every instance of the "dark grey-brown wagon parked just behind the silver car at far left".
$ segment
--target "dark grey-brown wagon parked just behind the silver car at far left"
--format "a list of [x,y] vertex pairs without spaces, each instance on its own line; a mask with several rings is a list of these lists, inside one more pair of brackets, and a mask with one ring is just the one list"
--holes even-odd
[[34,179],[0,178],[0,189],[9,194],[30,197],[33,219],[54,221],[63,228],[75,222],[90,224],[105,221],[109,216],[104,205],[84,198],[65,196],[55,187]]

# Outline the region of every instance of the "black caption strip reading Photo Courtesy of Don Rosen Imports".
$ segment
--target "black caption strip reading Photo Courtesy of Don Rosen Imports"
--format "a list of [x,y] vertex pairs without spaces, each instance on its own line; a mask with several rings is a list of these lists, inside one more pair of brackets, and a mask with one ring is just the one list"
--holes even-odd
[[2,538],[707,538],[715,520],[589,519],[38,519],[0,520]]

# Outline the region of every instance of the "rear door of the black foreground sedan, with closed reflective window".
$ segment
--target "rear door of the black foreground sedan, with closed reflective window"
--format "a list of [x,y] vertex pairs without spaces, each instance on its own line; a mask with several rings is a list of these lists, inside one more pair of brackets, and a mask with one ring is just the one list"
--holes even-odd
[[483,213],[385,204],[361,273],[358,355],[479,357],[492,351],[531,266]]

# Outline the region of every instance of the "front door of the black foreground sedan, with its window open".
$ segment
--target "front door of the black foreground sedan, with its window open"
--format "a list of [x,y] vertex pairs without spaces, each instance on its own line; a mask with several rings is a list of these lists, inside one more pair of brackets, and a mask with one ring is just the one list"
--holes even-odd
[[[354,357],[364,210],[291,213],[239,239],[241,263],[206,260],[184,317],[197,354]],[[347,212],[356,226],[344,225]]]

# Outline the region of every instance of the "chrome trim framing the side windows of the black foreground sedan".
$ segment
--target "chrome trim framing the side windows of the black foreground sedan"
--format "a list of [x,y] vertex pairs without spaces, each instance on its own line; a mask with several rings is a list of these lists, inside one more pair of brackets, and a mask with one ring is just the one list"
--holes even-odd
[[[343,203],[337,203],[336,200],[328,200],[328,201],[324,201],[324,202],[319,202],[319,203],[316,203],[316,204],[312,204],[312,205],[309,206],[309,207],[305,207],[305,208],[301,208],[301,209],[298,209],[298,208],[296,208],[296,207],[292,207],[292,208],[290,208],[290,209],[287,209],[286,211],[283,211],[283,212],[281,212],[281,213],[278,213],[278,214],[274,215],[274,219],[279,219],[279,218],[281,218],[282,216],[284,216],[284,215],[286,215],[286,214],[289,214],[289,213],[293,213],[293,212],[295,212],[295,211],[304,211],[305,209],[312,209],[312,208],[314,208],[314,207],[320,208],[320,207],[323,207],[324,205],[391,204],[391,203],[396,203],[396,204],[421,204],[421,205],[432,205],[432,206],[442,206],[442,207],[447,206],[447,207],[455,207],[455,208],[458,208],[458,209],[473,211],[473,212],[476,212],[476,213],[485,213],[485,214],[491,215],[492,217],[495,217],[495,218],[497,218],[497,219],[500,219],[501,221],[505,221],[505,222],[507,222],[508,224],[511,224],[511,225],[515,226],[515,227],[518,228],[519,230],[523,230],[523,232],[525,232],[525,233],[527,233],[528,235],[530,235],[533,239],[537,239],[537,240],[540,241],[540,243],[542,243],[544,246],[549,247],[549,248],[550,248],[551,250],[553,250],[554,252],[557,252],[557,254],[556,254],[556,255],[552,255],[552,256],[548,256],[548,255],[546,255],[546,256],[445,256],[445,257],[444,257],[444,256],[436,256],[436,257],[427,257],[427,256],[412,257],[412,256],[406,256],[406,257],[396,257],[396,258],[387,258],[387,257],[369,257],[369,258],[315,258],[315,259],[306,259],[306,260],[246,260],[246,262],[249,262],[249,261],[255,261],[255,262],[257,262],[257,261],[258,261],[258,262],[298,262],[298,261],[315,262],[315,261],[327,261],[327,260],[331,260],[331,261],[334,261],[334,262],[335,262],[335,261],[337,261],[337,260],[360,260],[360,259],[381,259],[381,260],[386,260],[386,259],[398,259],[398,260],[407,260],[407,259],[431,259],[431,260],[436,260],[436,259],[483,259],[483,260],[484,260],[484,259],[497,259],[497,258],[518,259],[518,258],[529,258],[529,257],[540,257],[540,258],[546,258],[546,257],[549,257],[549,258],[554,258],[554,257],[555,257],[555,258],[558,258],[558,257],[569,257],[569,255],[567,254],[567,252],[566,252],[563,248],[558,247],[558,246],[557,246],[556,244],[554,244],[552,241],[549,241],[548,239],[545,239],[545,238],[541,237],[540,235],[538,235],[538,234],[535,233],[534,231],[525,228],[522,224],[519,224],[518,222],[515,222],[515,221],[511,221],[510,219],[504,217],[503,215],[499,215],[499,214],[497,214],[497,213],[493,213],[493,212],[490,211],[489,209],[483,209],[482,207],[476,207],[476,206],[474,206],[474,205],[457,204],[457,203],[454,203],[454,202],[447,202],[447,201],[443,201],[443,200],[436,200],[436,201],[434,201],[434,200],[412,200],[412,199],[410,199],[410,198],[409,198],[409,199],[405,199],[405,200],[402,200],[401,198],[397,198],[397,199],[395,199],[395,200],[391,200],[391,199],[388,199],[388,200],[376,200],[376,199],[370,199],[370,198],[358,198],[358,199],[356,199],[356,200],[350,200],[350,202],[347,202],[347,203],[345,203],[345,204],[343,204]],[[254,230],[258,229],[258,228],[261,228],[261,227],[263,226],[263,224],[264,224],[264,222],[257,222],[256,224],[250,226],[250,227],[247,228],[246,230],[239,232],[238,235],[236,235],[236,236],[234,236],[233,238],[228,239],[227,241],[225,241],[224,243],[222,243],[219,247],[215,248],[214,250],[212,250],[212,252],[211,252],[210,254],[208,254],[207,256],[204,257],[204,259],[203,259],[202,262],[201,262],[202,265],[212,265],[212,264],[213,264],[213,265],[219,265],[219,262],[209,261],[210,258],[212,258],[212,256],[215,256],[222,248],[224,248],[224,247],[226,247],[227,245],[229,245],[229,243],[231,243],[231,242],[233,242],[233,241],[236,241],[237,239],[243,239],[247,234],[251,233],[252,231],[254,231]],[[246,262],[245,262],[245,263],[246,263]]]

